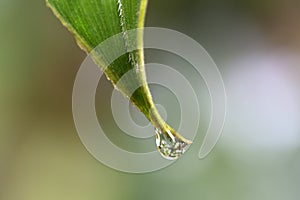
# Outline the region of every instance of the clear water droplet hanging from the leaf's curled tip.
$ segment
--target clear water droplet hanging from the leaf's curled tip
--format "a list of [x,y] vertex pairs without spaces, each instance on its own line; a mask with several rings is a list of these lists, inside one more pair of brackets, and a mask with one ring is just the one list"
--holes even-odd
[[192,143],[181,138],[167,129],[162,131],[156,128],[156,147],[159,153],[168,160],[176,160],[189,148]]

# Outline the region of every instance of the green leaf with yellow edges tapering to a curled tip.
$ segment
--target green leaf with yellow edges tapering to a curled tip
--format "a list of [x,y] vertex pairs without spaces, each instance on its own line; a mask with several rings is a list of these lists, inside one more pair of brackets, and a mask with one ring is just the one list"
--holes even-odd
[[[147,0],[46,0],[47,5],[64,26],[74,35],[79,46],[91,53],[95,62],[104,70],[107,78],[144,113],[148,120],[163,132],[169,130],[173,135],[189,143],[158,114],[153,103],[144,70],[143,33],[137,31],[132,36],[126,31],[144,27]],[[96,47],[116,34],[123,34],[122,41],[102,52]],[[112,63],[105,62],[105,54],[114,53],[119,48],[136,45],[137,50],[125,53]],[[130,43],[130,44],[129,44]],[[96,49],[95,49],[96,48]],[[109,64],[107,68],[103,68]],[[132,69],[137,70],[132,70]],[[125,81],[120,81],[128,71],[133,73]],[[132,87],[141,85],[133,93]]]

